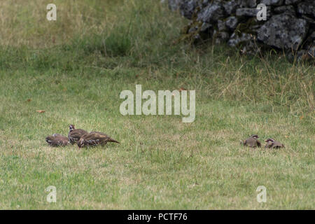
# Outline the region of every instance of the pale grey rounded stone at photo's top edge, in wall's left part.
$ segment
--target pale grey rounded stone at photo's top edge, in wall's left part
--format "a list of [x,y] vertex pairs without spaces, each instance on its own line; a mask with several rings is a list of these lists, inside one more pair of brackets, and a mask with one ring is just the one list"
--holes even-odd
[[200,13],[197,15],[197,20],[202,22],[216,22],[223,18],[223,8],[221,6],[221,1],[213,1],[209,3],[208,6],[202,8]]

